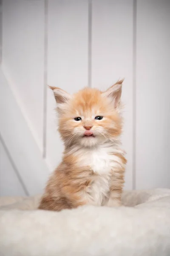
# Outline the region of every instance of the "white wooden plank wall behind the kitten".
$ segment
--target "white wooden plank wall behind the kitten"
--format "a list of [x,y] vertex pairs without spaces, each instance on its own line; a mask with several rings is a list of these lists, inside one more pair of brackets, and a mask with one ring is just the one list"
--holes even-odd
[[125,189],[170,188],[170,1],[2,0],[0,195],[41,192],[59,163],[55,101],[125,77]]

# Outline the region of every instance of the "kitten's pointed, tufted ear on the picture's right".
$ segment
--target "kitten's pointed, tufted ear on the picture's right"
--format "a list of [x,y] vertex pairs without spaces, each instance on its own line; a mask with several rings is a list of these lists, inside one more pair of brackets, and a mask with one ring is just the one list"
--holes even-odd
[[117,81],[116,84],[113,84],[110,88],[108,88],[108,90],[102,93],[104,97],[111,99],[115,108],[117,108],[120,103],[123,81],[124,79]]

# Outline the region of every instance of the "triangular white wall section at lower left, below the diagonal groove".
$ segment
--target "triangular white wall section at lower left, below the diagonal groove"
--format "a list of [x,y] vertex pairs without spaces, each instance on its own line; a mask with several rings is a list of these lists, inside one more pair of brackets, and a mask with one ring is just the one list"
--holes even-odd
[[26,196],[26,193],[0,141],[0,196]]

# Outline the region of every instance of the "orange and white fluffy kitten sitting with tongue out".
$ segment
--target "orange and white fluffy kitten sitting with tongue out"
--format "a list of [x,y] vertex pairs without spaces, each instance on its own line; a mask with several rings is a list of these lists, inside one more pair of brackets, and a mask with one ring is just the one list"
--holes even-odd
[[39,209],[120,206],[126,164],[119,142],[122,81],[105,92],[85,88],[72,96],[59,88],[51,89],[65,150],[48,180]]

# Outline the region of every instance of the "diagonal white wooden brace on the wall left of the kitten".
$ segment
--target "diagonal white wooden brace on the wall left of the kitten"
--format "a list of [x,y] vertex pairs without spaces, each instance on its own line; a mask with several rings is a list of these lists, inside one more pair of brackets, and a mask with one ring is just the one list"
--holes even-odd
[[30,195],[42,192],[48,168],[0,69],[0,135]]

